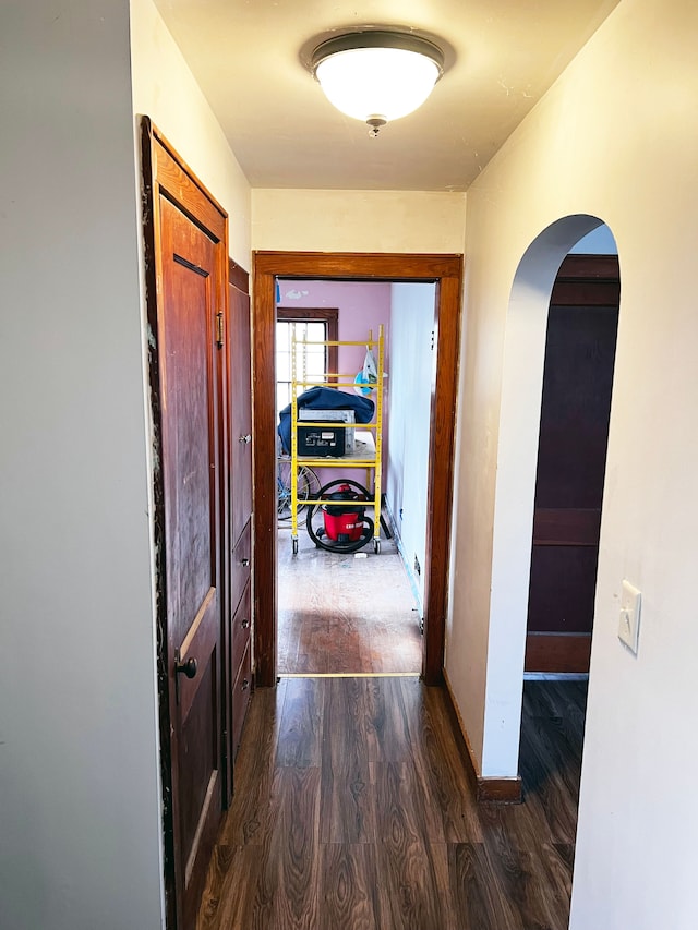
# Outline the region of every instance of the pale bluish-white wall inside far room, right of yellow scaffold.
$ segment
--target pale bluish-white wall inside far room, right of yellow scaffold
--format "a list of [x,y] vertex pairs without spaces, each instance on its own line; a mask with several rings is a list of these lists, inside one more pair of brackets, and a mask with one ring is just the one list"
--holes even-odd
[[[423,615],[436,289],[430,283],[394,283],[390,292],[390,451],[385,491]],[[421,566],[419,576],[414,556]]]

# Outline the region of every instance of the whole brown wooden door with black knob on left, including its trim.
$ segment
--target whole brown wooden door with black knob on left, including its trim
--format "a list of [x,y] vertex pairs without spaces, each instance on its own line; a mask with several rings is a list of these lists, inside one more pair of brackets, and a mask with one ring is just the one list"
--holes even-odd
[[144,128],[168,927],[193,930],[224,806],[227,221]]

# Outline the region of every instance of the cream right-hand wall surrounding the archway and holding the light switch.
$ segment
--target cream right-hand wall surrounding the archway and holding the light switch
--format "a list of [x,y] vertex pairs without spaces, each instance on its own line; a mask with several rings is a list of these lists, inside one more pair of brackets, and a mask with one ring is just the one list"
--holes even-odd
[[[516,446],[506,398],[521,357],[507,353],[517,334],[530,338],[517,304],[540,306],[535,291],[571,245],[570,230],[549,231],[554,261],[527,263],[533,279],[510,303],[513,282],[529,245],[565,216],[605,221],[621,262],[571,930],[696,921],[696,34],[689,0],[622,0],[468,193],[446,664],[485,774],[516,771],[521,688],[520,617],[507,617],[506,585],[518,583],[524,543],[502,506],[520,505],[497,468],[518,454],[526,470],[529,439]],[[580,234],[594,221],[580,220]],[[518,370],[527,390],[541,364],[538,354]],[[529,474],[524,506],[532,494]],[[643,592],[637,656],[616,637],[623,578]]]

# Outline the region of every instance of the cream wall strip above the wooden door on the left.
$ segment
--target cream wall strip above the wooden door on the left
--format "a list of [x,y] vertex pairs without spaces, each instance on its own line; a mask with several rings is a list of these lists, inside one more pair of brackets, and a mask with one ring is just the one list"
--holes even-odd
[[131,0],[133,111],[148,116],[228,212],[230,256],[250,270],[250,185],[152,0]]

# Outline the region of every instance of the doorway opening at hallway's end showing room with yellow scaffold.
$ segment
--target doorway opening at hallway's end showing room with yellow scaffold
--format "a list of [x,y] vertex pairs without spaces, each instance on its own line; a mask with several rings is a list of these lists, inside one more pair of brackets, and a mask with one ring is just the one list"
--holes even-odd
[[[435,297],[432,282],[277,279],[279,675],[421,673]],[[304,503],[342,493],[361,503]]]

